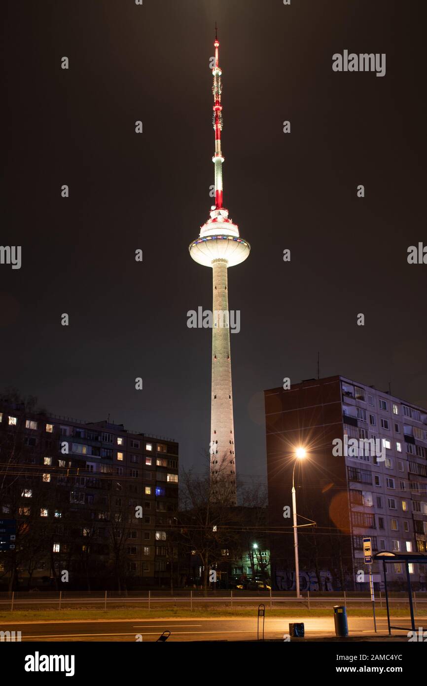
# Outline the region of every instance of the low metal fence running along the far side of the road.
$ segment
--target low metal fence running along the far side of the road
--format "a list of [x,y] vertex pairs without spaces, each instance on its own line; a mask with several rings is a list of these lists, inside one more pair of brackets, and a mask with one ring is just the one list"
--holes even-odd
[[[305,608],[307,610],[331,605],[344,605],[347,608],[369,608],[369,593],[331,593],[306,592],[302,598],[295,598],[286,591],[0,591],[0,610],[87,610],[101,608],[186,608],[193,611],[197,607],[217,608],[251,607],[260,602],[271,609]],[[427,611],[427,593],[413,593],[415,612]],[[385,595],[376,593],[376,604],[385,607]],[[391,606],[406,606],[408,596],[403,592],[389,593]]]

